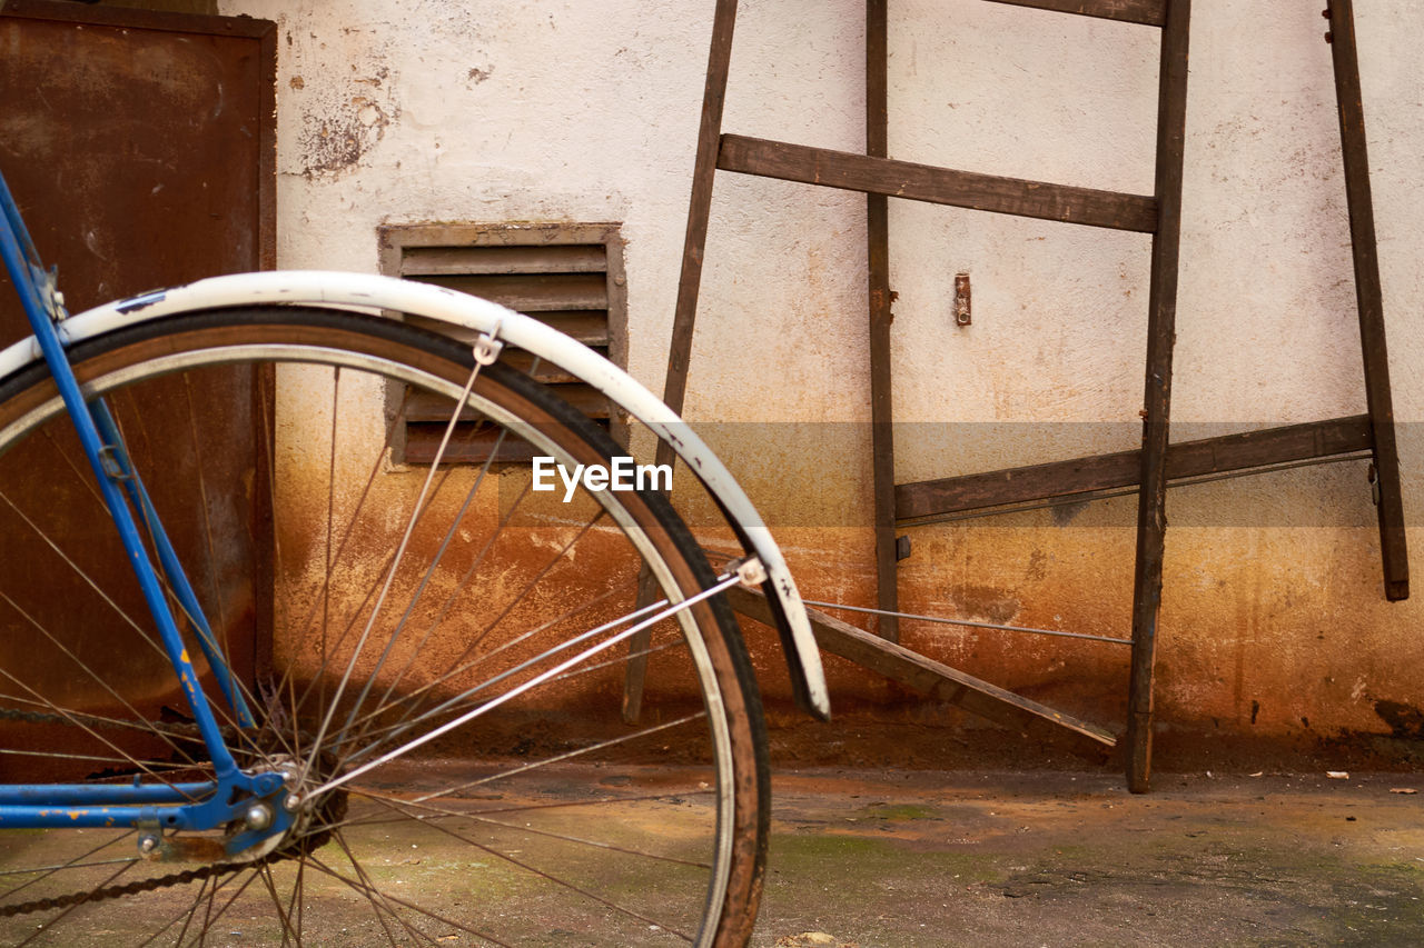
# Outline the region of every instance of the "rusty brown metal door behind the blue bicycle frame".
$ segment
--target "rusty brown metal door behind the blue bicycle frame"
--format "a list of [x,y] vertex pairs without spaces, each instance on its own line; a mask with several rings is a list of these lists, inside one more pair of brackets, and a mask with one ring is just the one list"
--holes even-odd
[[[0,168],[47,265],[58,265],[71,312],[216,273],[271,268],[275,256],[273,81],[275,27],[265,20],[158,14],[70,3],[11,0],[0,14]],[[0,276],[0,343],[28,335],[24,316]],[[169,380],[165,380],[168,383]],[[161,510],[179,549],[202,547],[198,534],[214,515],[251,524],[221,565],[199,565],[195,581],[222,586],[244,604],[225,618],[239,675],[259,660],[269,613],[263,562],[271,544],[251,372],[234,372],[197,393],[171,380],[172,399],[197,406],[188,427],[201,433],[205,465],[218,470],[187,488],[164,484]],[[115,406],[122,411],[122,404]],[[191,431],[145,431],[191,438]],[[141,446],[135,446],[135,451]],[[120,605],[142,615],[112,527],[87,495],[61,446],[26,460],[24,483],[0,484],[0,538],[30,530],[24,512],[57,505],[73,511],[53,535],[88,554],[118,589]],[[83,464],[83,461],[80,461]],[[11,465],[13,467],[13,465]],[[145,477],[150,477],[145,473]],[[162,474],[155,474],[162,478]],[[68,484],[68,487],[60,487]],[[188,491],[185,495],[184,491]],[[171,522],[169,522],[171,521]],[[231,541],[229,541],[231,542]],[[216,571],[219,575],[211,575]],[[172,676],[152,652],[135,648],[103,604],[63,601],[74,576],[60,561],[6,555],[0,589],[0,668],[46,623],[90,662],[122,669],[150,710],[182,707]],[[74,675],[73,669],[56,669]],[[95,709],[105,697],[95,693]],[[75,699],[77,706],[87,706]],[[50,737],[46,737],[48,740]],[[33,740],[33,737],[31,737]]]

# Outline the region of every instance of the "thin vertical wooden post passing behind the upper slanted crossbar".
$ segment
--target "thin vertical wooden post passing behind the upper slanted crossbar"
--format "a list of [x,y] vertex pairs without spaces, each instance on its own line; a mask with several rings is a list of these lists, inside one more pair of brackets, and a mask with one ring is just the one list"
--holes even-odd
[[[889,151],[889,41],[886,0],[866,0],[866,154]],[[884,195],[866,195],[866,258],[870,320],[870,471],[876,527],[876,606],[899,612],[894,544],[894,428],[890,376],[890,209]],[[876,629],[900,641],[900,621],[877,616]]]

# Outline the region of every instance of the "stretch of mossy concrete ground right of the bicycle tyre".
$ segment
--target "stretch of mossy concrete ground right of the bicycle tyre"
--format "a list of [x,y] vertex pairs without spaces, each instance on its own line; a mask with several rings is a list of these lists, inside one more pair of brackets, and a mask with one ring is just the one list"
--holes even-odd
[[753,944],[1424,944],[1417,774],[780,771]]

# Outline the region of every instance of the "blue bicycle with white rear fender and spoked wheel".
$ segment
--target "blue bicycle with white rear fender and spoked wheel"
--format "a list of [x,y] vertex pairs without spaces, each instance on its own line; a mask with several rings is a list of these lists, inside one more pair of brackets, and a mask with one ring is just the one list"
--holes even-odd
[[[74,944],[101,921],[122,944],[234,927],[245,944],[745,944],[766,739],[718,594],[765,592],[822,716],[826,686],[780,552],[671,410],[530,317],[389,278],[225,276],[70,316],[3,178],[0,204],[34,332],[0,353],[0,514],[7,559],[44,576],[0,589],[0,762],[34,781],[0,786],[0,938]],[[562,502],[497,451],[444,464],[468,418],[570,467],[622,454],[501,362],[510,346],[668,440],[743,557],[713,571],[652,490],[585,481]],[[236,491],[209,490],[194,421],[219,374],[241,394],[224,423],[261,436]],[[406,409],[434,399],[440,447],[404,464]],[[323,417],[295,426],[312,406]],[[40,458],[68,474],[21,508],[6,485]],[[292,471],[325,498],[293,494]],[[98,527],[75,535],[75,515]],[[178,515],[201,530],[165,531]],[[390,522],[394,549],[363,545]],[[234,601],[225,551],[252,524],[271,557]],[[101,586],[118,561],[131,569]],[[639,572],[656,595],[639,598]],[[75,622],[132,641],[132,660],[95,668]],[[625,643],[649,628],[658,719],[607,736],[581,720],[587,699],[617,705]],[[235,656],[253,629],[271,652]],[[451,867],[467,888],[449,888]]]

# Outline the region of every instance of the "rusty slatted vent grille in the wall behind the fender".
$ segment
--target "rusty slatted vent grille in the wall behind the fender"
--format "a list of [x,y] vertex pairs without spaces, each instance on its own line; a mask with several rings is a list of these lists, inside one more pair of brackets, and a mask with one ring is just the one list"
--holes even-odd
[[[615,223],[550,225],[390,225],[380,228],[382,272],[481,296],[527,313],[607,356],[625,362],[627,305],[622,241]],[[451,335],[446,323],[410,322]],[[473,333],[453,333],[473,343]],[[508,364],[528,372],[604,427],[612,426],[608,400],[557,366],[534,364],[530,353],[506,349]],[[397,460],[430,463],[450,418],[446,399],[393,393],[403,413]],[[444,460],[484,463],[498,430],[474,411],[461,417]],[[498,446],[497,463],[528,463],[527,444]]]

